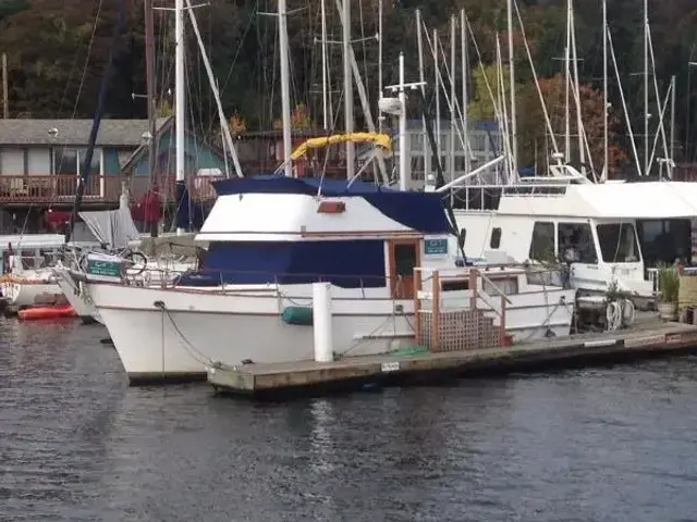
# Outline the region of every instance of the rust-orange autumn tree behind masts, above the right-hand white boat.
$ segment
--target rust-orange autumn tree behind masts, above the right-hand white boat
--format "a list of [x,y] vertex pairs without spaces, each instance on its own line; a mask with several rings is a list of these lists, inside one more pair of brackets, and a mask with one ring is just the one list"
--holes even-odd
[[[550,137],[549,128],[545,122],[545,115],[540,103],[539,94],[535,83],[527,84],[522,89],[516,100],[517,114],[517,139],[518,139],[518,165],[546,165],[551,162],[551,154],[554,152],[554,141],[561,153],[565,152],[566,135],[566,90],[564,88],[564,77],[561,74],[549,78],[540,78],[539,86],[550,124],[553,133],[553,140]],[[585,152],[585,165],[589,171],[592,164],[594,171],[600,175],[604,162],[604,120],[603,120],[603,98],[602,92],[592,86],[582,84],[578,88],[580,100],[580,115],[583,121],[583,133],[587,148],[590,150],[590,159]],[[570,86],[570,151],[567,162],[579,169],[580,154],[578,149],[577,111],[573,86]],[[626,160],[624,149],[619,145],[617,129],[620,122],[616,114],[610,112],[608,119],[608,142],[609,142],[609,176],[612,177],[617,167]],[[580,169],[579,169],[580,170]]]

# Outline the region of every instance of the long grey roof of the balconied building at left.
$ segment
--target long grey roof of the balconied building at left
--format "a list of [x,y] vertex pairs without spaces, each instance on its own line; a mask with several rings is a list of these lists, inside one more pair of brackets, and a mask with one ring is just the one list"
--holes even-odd
[[[167,122],[158,119],[157,126]],[[89,141],[93,120],[0,120],[0,146],[82,145]],[[107,120],[99,125],[97,147],[138,147],[148,132],[147,120]]]

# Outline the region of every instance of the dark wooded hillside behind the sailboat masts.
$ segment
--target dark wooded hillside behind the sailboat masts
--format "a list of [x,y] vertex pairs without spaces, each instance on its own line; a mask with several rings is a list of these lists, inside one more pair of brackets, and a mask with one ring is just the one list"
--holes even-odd
[[[377,97],[378,0],[352,0],[354,51],[362,76],[372,100]],[[117,17],[114,0],[0,0],[0,52],[8,55],[10,112],[12,117],[89,117],[96,104],[99,80],[107,63],[110,35]],[[167,3],[167,2],[160,2]],[[173,3],[173,2],[171,2]],[[288,26],[291,46],[291,96],[293,105],[306,108],[296,117],[304,125],[321,122],[321,52],[318,0],[289,0]],[[424,22],[438,29],[445,52],[449,50],[449,17],[466,10],[484,67],[479,66],[469,42],[470,75],[468,88],[473,117],[491,117],[491,100],[482,92],[486,70],[493,71],[496,35],[506,55],[506,12],[504,0],[383,0],[383,77],[396,80],[398,55],[405,53],[407,78],[417,79],[417,46],[414,9]],[[697,77],[690,78],[688,62],[697,61],[697,5],[694,0],[651,0],[650,26],[655,49],[656,82],[661,103],[671,77],[676,76],[675,141],[678,161],[693,161],[697,148]],[[117,49],[118,74],[111,86],[107,109],[112,117],[144,117],[145,89],[144,15],[140,0],[129,0],[127,30]],[[528,64],[524,41],[533,55],[540,89],[550,110],[554,134],[563,126],[563,61],[566,39],[565,0],[518,0],[525,23],[525,38],[517,28],[513,35],[516,53],[516,94],[521,139],[521,163],[536,158],[537,141],[545,141],[539,96]],[[602,35],[600,0],[576,0],[576,39],[580,76],[579,95],[586,135],[594,161],[602,162]],[[644,122],[644,40],[643,0],[608,2],[624,95],[629,120],[636,134]],[[196,10],[201,36],[219,79],[223,105],[239,128],[273,128],[280,115],[277,18],[261,13],[277,10],[274,0],[211,0]],[[329,39],[341,39],[337,2],[327,0]],[[171,107],[173,89],[173,15],[158,10],[156,54],[158,103]],[[429,37],[432,35],[429,35]],[[372,38],[371,38],[372,37]],[[209,133],[216,111],[189,30],[187,85],[192,124]],[[457,46],[458,47],[458,46]],[[341,46],[329,45],[334,122],[341,128],[342,62]],[[432,78],[432,60],[427,62],[427,78]],[[627,130],[620,91],[610,65],[612,162],[627,157]],[[494,74],[496,75],[496,74]],[[460,82],[460,79],[458,79]],[[651,90],[653,88],[651,77]],[[432,82],[429,85],[432,98]],[[458,87],[460,89],[460,87]],[[458,90],[460,91],[460,90]],[[136,96],[133,96],[136,95]],[[356,108],[359,103],[356,99]],[[659,108],[651,92],[651,120],[658,122]],[[575,117],[575,116],[574,116]],[[360,122],[357,123],[360,125]],[[333,125],[332,125],[333,126]]]

